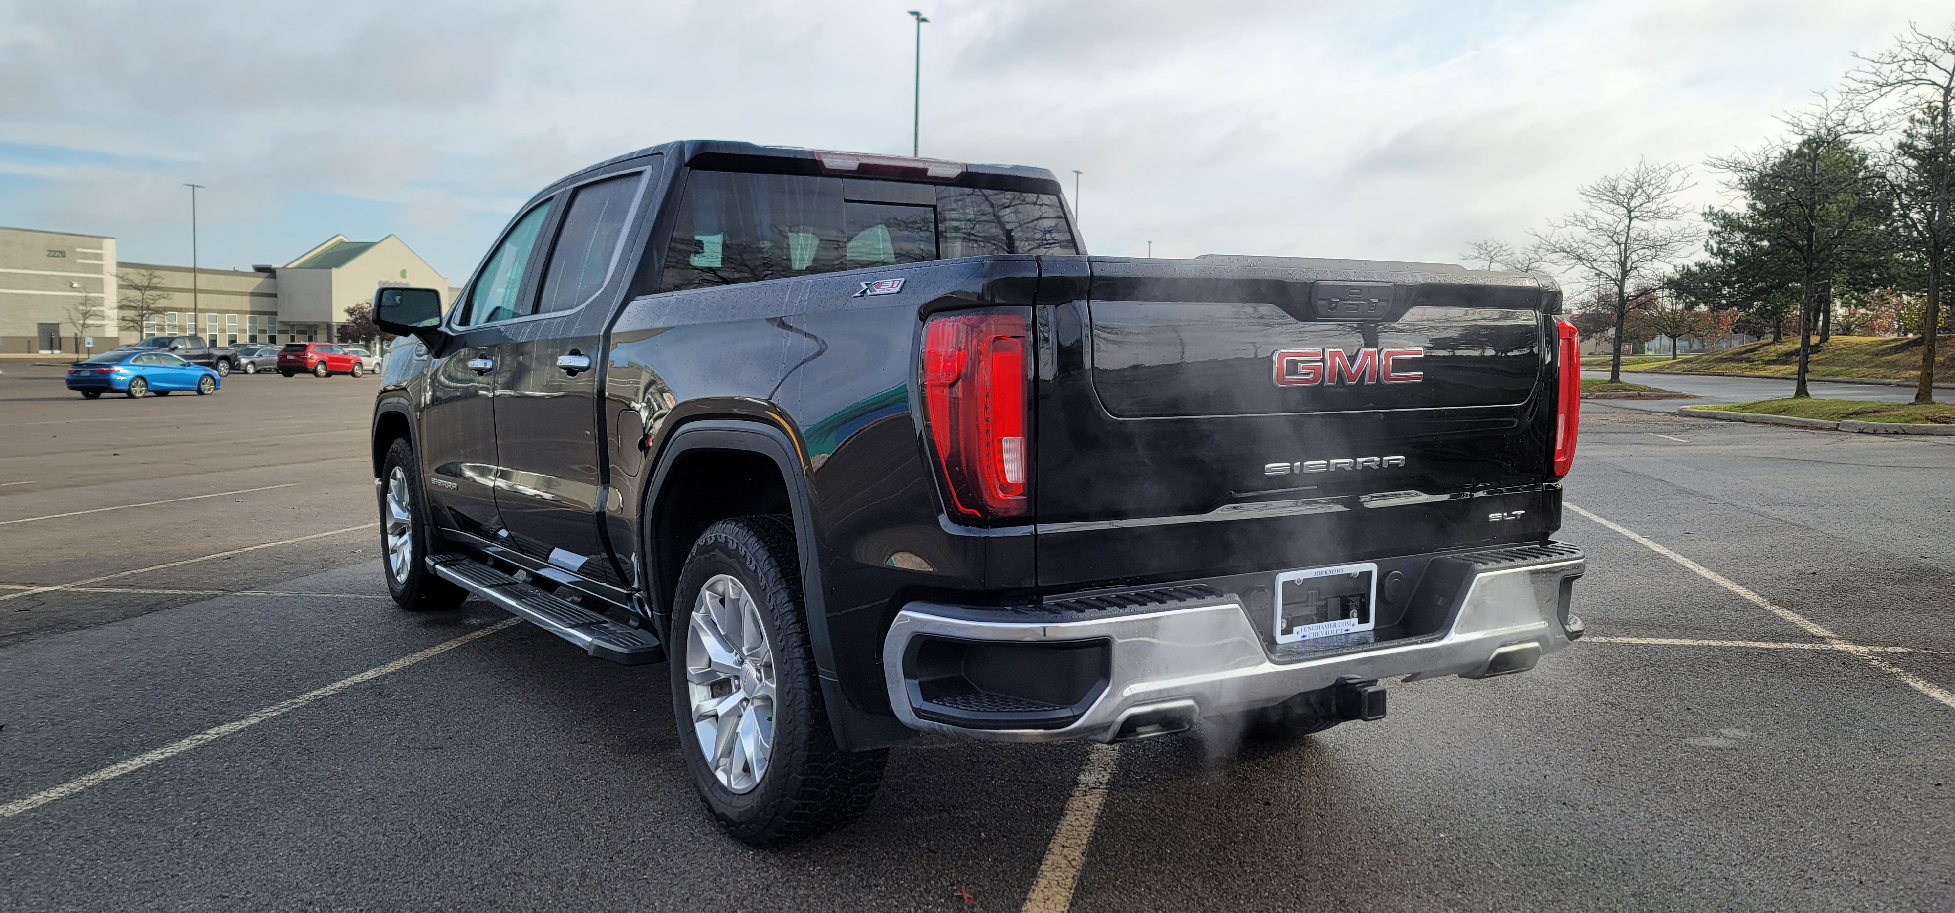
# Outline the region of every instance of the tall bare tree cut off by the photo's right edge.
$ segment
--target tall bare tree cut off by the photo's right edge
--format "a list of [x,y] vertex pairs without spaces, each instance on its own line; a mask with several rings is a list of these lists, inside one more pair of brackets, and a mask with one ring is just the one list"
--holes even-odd
[[1945,35],[1932,35],[1910,22],[1892,49],[1861,61],[1865,66],[1847,74],[1853,100],[1867,106],[1887,102],[1896,117],[1906,119],[1889,176],[1896,227],[1928,268],[1928,319],[1914,401],[1933,403],[1941,289],[1955,248],[1955,211],[1949,209],[1949,186],[1955,182],[1955,125],[1949,123],[1955,117],[1955,25]]

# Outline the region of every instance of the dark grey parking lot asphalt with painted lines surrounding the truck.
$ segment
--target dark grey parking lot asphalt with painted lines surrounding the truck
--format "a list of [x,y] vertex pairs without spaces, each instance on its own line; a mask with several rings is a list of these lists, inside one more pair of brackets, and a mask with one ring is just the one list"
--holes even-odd
[[[307,479],[0,526],[14,587],[289,540],[313,528],[293,500],[371,520],[362,381],[244,377],[186,409],[14,379],[8,426],[160,409],[66,424],[72,450],[10,440],[0,483],[53,495],[0,487],[0,522]],[[371,530],[94,587],[219,594],[0,602],[57,618],[0,641],[0,905],[1955,907],[1955,442],[1584,409],[1562,538],[1591,633],[1533,673],[1392,684],[1386,719],[1284,743],[927,737],[862,821],[784,850],[700,809],[665,665],[479,602],[401,612]],[[201,450],[213,422],[264,432],[256,457]],[[295,424],[317,436],[278,440]],[[127,432],[160,448],[123,452],[141,479],[90,450]],[[266,520],[219,522],[246,506]]]

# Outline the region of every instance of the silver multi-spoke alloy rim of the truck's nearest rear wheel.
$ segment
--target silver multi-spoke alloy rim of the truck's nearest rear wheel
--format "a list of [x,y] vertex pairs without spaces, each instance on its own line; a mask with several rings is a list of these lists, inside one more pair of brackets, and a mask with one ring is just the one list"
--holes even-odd
[[686,698],[700,753],[719,786],[753,792],[774,753],[774,647],[739,579],[700,587],[686,630]]

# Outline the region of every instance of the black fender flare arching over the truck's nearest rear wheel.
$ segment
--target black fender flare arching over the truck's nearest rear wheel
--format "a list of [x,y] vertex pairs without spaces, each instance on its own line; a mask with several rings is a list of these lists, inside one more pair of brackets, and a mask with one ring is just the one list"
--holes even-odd
[[[657,469],[651,473],[651,481],[645,485],[643,506],[637,514],[637,538],[639,553],[645,555],[641,561],[641,573],[645,575],[645,588],[653,596],[653,610],[659,614],[659,626],[663,628],[667,657],[669,661],[678,661],[673,655],[676,641],[673,639],[673,606],[665,604],[665,587],[661,569],[657,567],[657,549],[651,542],[651,532],[655,518],[659,516],[659,499],[665,495],[667,477],[680,456],[694,450],[737,450],[747,454],[759,454],[774,461],[780,469],[782,481],[788,485],[788,510],[794,518],[794,545],[798,551],[800,575],[802,575],[802,606],[807,622],[807,641],[815,653],[815,678],[821,682],[821,702],[827,708],[829,725],[835,729],[837,745],[848,747],[847,719],[860,714],[848,706],[843,696],[841,680],[835,676],[835,645],[829,639],[829,614],[827,614],[827,587],[821,577],[821,555],[819,540],[815,538],[815,518],[811,500],[807,497],[807,477],[802,471],[800,448],[784,430],[774,424],[759,422],[751,418],[694,418],[667,436],[665,446],[659,452]],[[678,569],[671,569],[676,581]]]

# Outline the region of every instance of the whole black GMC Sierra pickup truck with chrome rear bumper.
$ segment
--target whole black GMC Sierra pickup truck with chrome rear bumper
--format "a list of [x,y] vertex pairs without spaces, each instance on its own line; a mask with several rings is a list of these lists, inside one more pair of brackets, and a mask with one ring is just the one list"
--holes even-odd
[[1087,256],[1042,168],[669,143],[538,194],[373,413],[387,587],[669,661],[735,837],[917,731],[1384,716],[1582,635],[1544,276]]

